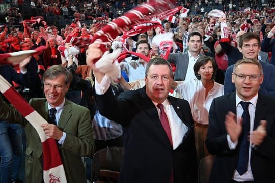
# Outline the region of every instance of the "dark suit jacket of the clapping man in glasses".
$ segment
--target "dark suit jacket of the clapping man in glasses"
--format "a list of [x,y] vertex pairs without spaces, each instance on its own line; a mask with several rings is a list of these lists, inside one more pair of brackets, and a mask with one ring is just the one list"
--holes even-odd
[[[236,114],[236,93],[230,93],[215,98],[209,111],[209,125],[206,147],[210,154],[216,155],[209,182],[229,183],[232,180],[238,161],[239,146],[230,150],[225,128],[225,115],[228,111]],[[225,105],[226,104],[226,105]],[[260,120],[267,120],[267,136],[262,144],[251,151],[251,170],[255,182],[275,182],[275,98],[259,94],[255,111],[254,127],[259,126]],[[239,139],[240,141],[240,139]]]

